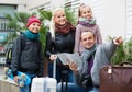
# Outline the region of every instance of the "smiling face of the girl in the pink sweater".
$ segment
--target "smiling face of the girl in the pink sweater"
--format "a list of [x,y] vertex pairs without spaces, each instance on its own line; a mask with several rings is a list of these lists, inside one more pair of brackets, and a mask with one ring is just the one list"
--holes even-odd
[[89,7],[80,7],[80,16],[85,19],[92,18],[92,11]]

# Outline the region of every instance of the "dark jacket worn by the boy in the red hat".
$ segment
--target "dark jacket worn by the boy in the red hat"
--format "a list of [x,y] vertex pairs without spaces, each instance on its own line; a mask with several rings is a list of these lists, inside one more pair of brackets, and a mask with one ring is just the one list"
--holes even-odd
[[[22,38],[25,39],[24,47],[22,47]],[[40,41],[28,39],[23,34],[18,36],[13,44],[11,60],[13,76],[16,76],[16,71],[43,76],[43,61]]]

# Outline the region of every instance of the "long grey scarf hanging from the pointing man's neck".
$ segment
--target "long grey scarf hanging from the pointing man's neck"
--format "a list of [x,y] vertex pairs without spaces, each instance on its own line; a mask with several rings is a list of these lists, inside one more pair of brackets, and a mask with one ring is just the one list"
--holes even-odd
[[96,53],[96,50],[97,50],[97,44],[95,44],[91,48],[89,48],[89,49],[85,49],[84,50],[84,53],[81,54],[81,59],[82,59],[82,61],[85,62],[84,64],[84,68],[85,69],[82,69],[82,73],[87,73],[86,72],[86,70],[88,70],[88,60],[90,59],[90,58],[92,58],[92,60],[94,60],[94,58],[95,58],[95,53]]

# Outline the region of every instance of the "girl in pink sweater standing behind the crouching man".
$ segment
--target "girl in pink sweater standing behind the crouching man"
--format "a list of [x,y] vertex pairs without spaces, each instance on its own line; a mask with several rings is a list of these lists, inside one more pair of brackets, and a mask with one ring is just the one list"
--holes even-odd
[[96,24],[96,20],[92,16],[92,11],[89,5],[84,3],[80,4],[78,9],[78,25],[76,27],[76,37],[75,37],[75,51],[81,54],[84,47],[80,44],[80,35],[84,31],[91,31],[96,37],[97,43],[102,44],[102,37],[99,30],[99,26]]

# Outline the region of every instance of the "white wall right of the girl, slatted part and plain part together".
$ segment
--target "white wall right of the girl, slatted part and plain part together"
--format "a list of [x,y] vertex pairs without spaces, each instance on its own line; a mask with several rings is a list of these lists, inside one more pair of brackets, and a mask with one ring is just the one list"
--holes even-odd
[[127,32],[125,0],[81,0],[89,4],[100,26],[103,42]]

